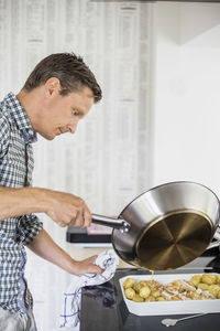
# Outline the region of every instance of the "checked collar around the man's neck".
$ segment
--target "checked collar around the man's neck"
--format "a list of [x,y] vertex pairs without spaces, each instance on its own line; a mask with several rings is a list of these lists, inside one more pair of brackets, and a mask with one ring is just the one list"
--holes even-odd
[[10,109],[16,126],[22,131],[25,142],[35,142],[37,140],[36,132],[34,132],[26,111],[22,107],[16,96],[10,92],[6,98],[6,103]]

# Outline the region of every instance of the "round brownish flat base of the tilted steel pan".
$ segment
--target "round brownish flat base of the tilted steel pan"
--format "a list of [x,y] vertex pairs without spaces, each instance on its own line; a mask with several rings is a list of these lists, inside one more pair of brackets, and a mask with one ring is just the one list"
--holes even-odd
[[212,232],[211,222],[201,213],[165,215],[141,236],[135,263],[150,270],[178,268],[204,253]]

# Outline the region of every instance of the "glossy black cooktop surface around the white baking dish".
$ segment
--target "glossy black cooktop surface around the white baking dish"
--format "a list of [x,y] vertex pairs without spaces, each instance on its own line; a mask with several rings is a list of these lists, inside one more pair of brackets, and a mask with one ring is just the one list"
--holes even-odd
[[[215,254],[213,254],[215,253]],[[217,255],[216,255],[217,253]],[[219,250],[201,256],[183,268],[156,274],[220,274]],[[165,331],[161,324],[164,318],[182,318],[185,316],[146,316],[130,313],[122,299],[119,279],[127,275],[148,275],[144,269],[118,269],[114,277],[100,286],[82,289],[80,331]],[[177,303],[178,305],[178,303]],[[196,319],[186,320],[172,327],[174,331],[217,331],[220,328],[220,313],[210,313]]]

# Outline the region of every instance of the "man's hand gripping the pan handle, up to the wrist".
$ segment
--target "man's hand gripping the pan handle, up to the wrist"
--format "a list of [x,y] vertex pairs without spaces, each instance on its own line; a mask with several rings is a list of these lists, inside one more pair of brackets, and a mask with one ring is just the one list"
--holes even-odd
[[46,194],[50,204],[45,212],[59,226],[87,227],[90,225],[91,213],[82,199],[74,194],[51,190]]

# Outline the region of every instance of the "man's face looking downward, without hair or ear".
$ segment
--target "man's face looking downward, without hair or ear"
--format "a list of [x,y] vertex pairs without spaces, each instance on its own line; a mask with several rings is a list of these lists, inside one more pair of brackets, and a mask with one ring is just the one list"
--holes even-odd
[[78,121],[89,113],[92,105],[94,94],[89,87],[65,96],[55,90],[44,103],[36,131],[48,140],[65,132],[74,134]]

